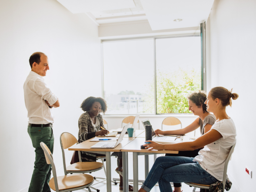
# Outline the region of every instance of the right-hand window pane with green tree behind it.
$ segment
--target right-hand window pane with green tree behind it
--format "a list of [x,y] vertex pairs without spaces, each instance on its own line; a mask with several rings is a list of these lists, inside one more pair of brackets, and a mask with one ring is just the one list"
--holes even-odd
[[157,113],[189,113],[187,96],[200,89],[200,37],[156,39]]

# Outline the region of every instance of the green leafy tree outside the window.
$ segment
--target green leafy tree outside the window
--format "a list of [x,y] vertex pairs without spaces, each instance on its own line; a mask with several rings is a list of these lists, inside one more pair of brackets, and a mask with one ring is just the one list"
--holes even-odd
[[[201,70],[184,71],[179,69],[172,73],[157,72],[156,108],[157,113],[190,113],[188,94],[200,90]],[[145,98],[143,111],[154,112],[154,83],[150,84],[148,97]]]

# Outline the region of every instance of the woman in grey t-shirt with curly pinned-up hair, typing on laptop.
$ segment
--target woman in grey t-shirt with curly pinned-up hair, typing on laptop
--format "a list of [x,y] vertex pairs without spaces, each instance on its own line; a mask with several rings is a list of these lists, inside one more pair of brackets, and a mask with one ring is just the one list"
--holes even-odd
[[[177,129],[172,131],[163,131],[157,129],[155,131],[156,135],[185,135],[189,132],[195,131],[198,127],[200,127],[200,133],[203,135],[207,133],[212,125],[215,123],[216,118],[214,115],[210,114],[206,110],[206,104],[204,101],[207,99],[207,95],[204,91],[194,92],[188,96],[188,106],[189,110],[198,117],[196,120],[183,129]],[[183,157],[195,157],[198,155],[198,152],[202,148],[198,148],[192,151],[179,151],[178,154],[165,154],[165,156],[183,156]],[[179,192],[181,183],[173,183],[174,191]]]

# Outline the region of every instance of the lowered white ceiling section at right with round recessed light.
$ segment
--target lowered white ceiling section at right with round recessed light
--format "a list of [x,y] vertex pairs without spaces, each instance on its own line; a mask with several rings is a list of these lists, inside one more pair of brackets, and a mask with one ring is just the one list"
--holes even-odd
[[[140,0],[152,30],[196,27],[207,20],[214,0]],[[175,22],[175,19],[182,19]]]

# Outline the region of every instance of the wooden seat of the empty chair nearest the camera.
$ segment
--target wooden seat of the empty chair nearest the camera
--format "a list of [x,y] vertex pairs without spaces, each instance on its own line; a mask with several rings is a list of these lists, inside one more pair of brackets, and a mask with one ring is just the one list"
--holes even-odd
[[[93,177],[87,174],[74,174],[57,177],[59,190],[82,187],[93,182]],[[49,182],[50,188],[56,191],[54,178]]]

